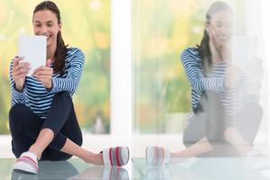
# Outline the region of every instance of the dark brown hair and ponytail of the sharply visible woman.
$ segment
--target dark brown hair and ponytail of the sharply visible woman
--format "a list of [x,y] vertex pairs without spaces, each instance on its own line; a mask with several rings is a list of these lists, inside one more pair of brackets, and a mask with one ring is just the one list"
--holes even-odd
[[[57,18],[58,18],[58,24],[61,23],[61,16],[60,16],[60,11],[58,9],[58,6],[51,2],[51,1],[43,1],[40,4],[38,4],[34,11],[33,11],[33,15],[41,10],[49,10],[52,13],[56,14]],[[55,73],[63,73],[64,72],[64,67],[65,67],[65,58],[67,55],[67,45],[65,45],[65,42],[62,38],[61,35],[61,31],[58,31],[58,35],[57,35],[57,48],[54,54],[55,57],[55,66],[53,71]]]

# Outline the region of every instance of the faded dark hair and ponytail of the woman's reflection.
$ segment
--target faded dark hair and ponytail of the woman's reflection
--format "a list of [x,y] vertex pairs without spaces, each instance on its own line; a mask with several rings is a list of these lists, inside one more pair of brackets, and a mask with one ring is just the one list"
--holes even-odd
[[[212,14],[215,14],[220,11],[229,11],[232,13],[232,9],[229,4],[217,1],[211,4],[210,8],[206,14],[206,24],[210,24]],[[204,29],[202,41],[200,45],[197,45],[199,55],[202,58],[202,73],[205,75],[211,69],[212,60],[211,60],[211,50],[209,46],[209,35]]]

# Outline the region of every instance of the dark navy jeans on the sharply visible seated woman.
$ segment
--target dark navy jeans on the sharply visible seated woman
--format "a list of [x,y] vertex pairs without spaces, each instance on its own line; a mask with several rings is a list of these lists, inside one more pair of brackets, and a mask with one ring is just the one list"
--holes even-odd
[[40,160],[67,160],[72,156],[59,151],[67,138],[79,146],[83,142],[72,99],[67,92],[55,94],[46,120],[40,119],[30,107],[15,104],[9,112],[9,127],[15,157],[20,157],[31,147],[42,129],[52,130],[54,139],[45,148]]

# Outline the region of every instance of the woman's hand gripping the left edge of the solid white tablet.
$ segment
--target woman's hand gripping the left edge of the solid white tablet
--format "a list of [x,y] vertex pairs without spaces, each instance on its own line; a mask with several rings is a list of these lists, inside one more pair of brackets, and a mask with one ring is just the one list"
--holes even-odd
[[17,91],[23,90],[25,76],[28,74],[28,72],[31,69],[30,63],[23,62],[22,60],[23,58],[20,58],[20,57],[14,58],[14,67],[12,71],[12,77],[14,78],[14,84]]

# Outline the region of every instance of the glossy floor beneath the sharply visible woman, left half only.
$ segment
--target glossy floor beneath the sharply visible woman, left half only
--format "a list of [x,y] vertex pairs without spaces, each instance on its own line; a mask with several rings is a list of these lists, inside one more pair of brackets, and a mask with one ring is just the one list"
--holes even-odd
[[12,180],[84,180],[84,179],[112,179],[127,180],[128,172],[123,167],[94,166],[79,159],[69,161],[41,161],[40,173],[30,175],[13,171],[14,159],[0,159],[0,179]]

